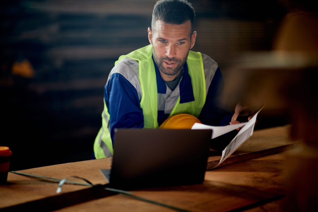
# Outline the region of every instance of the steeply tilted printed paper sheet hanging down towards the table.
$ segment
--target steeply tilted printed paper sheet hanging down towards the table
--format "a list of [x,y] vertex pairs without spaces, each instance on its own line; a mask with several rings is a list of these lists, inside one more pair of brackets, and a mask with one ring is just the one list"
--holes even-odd
[[[220,165],[226,158],[228,158],[235,150],[241,146],[245,140],[247,140],[252,134],[256,122],[258,113],[263,109],[263,107],[253,116],[251,120],[245,122],[245,126],[239,131],[239,133],[233,138],[233,140],[225,147],[222,151],[222,158],[218,165]],[[217,166],[218,166],[217,165]],[[215,166],[214,168],[216,168]]]

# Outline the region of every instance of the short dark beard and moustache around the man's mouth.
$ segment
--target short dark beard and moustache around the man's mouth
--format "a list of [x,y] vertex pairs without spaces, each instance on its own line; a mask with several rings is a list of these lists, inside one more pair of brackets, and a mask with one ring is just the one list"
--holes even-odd
[[[187,58],[188,58],[188,54],[189,52],[187,53],[187,55],[184,57],[184,58],[169,58],[169,57],[162,57],[162,58],[159,58],[157,55],[156,55],[156,52],[155,50],[153,50],[153,56],[154,56],[154,59],[155,59],[155,62],[156,64],[158,65],[158,68],[160,69],[160,71],[166,75],[169,75],[169,76],[173,76],[175,74],[177,74],[182,68],[183,68],[183,65],[186,63],[187,61]],[[163,65],[163,61],[169,61],[169,62],[175,62],[177,64],[177,66],[175,68],[170,68],[170,67],[164,67]]]

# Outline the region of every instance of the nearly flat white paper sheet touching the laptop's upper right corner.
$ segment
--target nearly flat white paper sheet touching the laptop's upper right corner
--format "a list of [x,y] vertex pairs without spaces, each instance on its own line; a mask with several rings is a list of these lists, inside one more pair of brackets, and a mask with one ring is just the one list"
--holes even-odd
[[200,123],[194,123],[191,129],[193,130],[199,130],[199,129],[212,129],[212,137],[216,138],[220,135],[223,135],[225,133],[231,132],[232,130],[235,130],[236,128],[244,126],[248,122],[244,122],[241,124],[234,124],[234,125],[226,125],[226,126],[210,126],[210,125],[205,125],[205,124],[200,124]]

